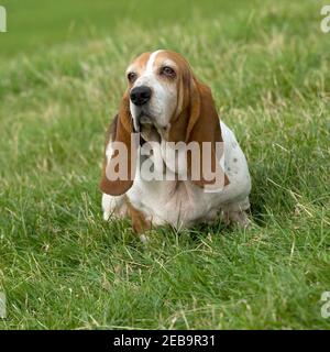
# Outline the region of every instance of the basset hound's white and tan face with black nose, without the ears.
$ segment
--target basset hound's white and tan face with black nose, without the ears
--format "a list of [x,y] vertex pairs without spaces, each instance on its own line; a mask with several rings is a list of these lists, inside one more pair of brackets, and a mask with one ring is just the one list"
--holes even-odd
[[161,136],[170,120],[180,113],[183,79],[190,74],[188,63],[168,51],[144,53],[127,69],[130,111],[136,131],[145,136],[153,127]]

